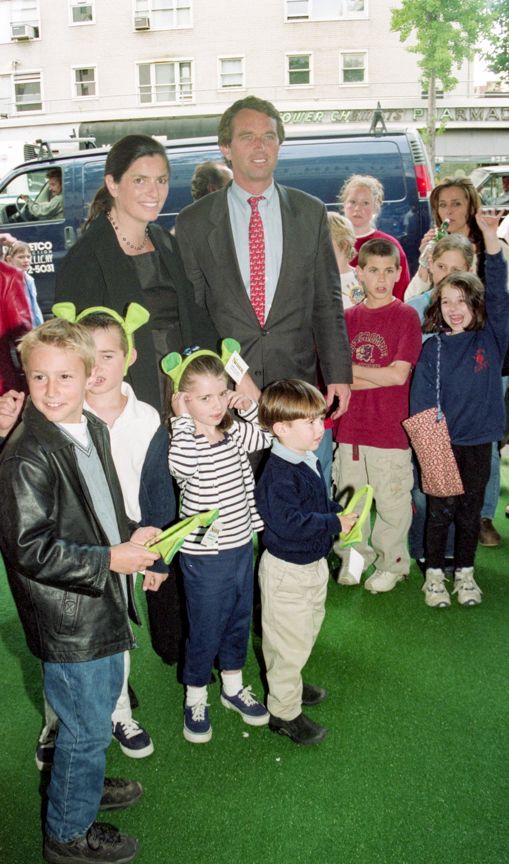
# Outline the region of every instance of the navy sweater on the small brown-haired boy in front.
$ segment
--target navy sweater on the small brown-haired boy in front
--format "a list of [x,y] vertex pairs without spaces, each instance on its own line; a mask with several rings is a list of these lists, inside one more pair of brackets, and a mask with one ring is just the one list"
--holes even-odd
[[319,477],[305,462],[293,465],[271,454],[254,490],[265,548],[292,564],[326,558],[341,530],[336,513],[342,507],[330,500],[319,462],[317,468]]

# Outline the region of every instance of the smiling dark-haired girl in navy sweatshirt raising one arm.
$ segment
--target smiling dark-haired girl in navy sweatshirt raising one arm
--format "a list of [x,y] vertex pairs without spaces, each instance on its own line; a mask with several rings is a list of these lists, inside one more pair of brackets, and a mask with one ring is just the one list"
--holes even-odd
[[426,528],[428,606],[448,607],[444,586],[445,545],[449,525],[456,525],[455,587],[463,606],[481,603],[474,581],[474,556],[481,526],[481,508],[490,475],[492,442],[506,425],[502,363],[509,343],[507,264],[500,251],[494,215],[476,214],[486,244],[485,281],[472,273],[453,273],[437,288],[426,310],[424,343],[410,393],[411,415],[437,405],[437,362],[440,362],[440,404],[462,478],[463,495],[430,496]]

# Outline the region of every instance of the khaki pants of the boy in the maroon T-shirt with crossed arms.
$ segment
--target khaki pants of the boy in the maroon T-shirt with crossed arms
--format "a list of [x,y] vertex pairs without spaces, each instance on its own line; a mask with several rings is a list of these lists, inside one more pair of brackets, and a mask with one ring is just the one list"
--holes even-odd
[[[368,545],[370,520],[362,527],[362,542],[355,550],[364,557],[365,569],[373,564],[376,567],[398,575],[406,575],[410,569],[410,556],[406,548],[406,535],[412,523],[413,486],[411,450],[384,449],[359,445],[359,459],[354,461],[351,444],[338,444],[332,467],[338,498],[343,492],[356,492],[366,483],[374,488],[376,518],[371,534],[372,546]],[[348,495],[348,499],[351,494]],[[364,498],[355,506],[361,514]],[[348,501],[344,502],[345,504]],[[338,557],[344,556],[338,539],[334,551]],[[348,550],[346,550],[348,552]]]

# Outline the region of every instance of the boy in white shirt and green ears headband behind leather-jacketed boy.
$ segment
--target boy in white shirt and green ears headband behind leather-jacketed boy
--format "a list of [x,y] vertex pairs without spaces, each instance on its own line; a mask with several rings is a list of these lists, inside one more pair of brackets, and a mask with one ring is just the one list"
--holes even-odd
[[[111,454],[120,480],[128,517],[142,525],[148,524],[147,518],[154,518],[156,520],[154,524],[160,525],[161,528],[167,527],[173,522],[176,510],[172,479],[167,470],[169,443],[167,430],[161,424],[158,412],[151,405],[140,402],[130,385],[123,380],[129,366],[136,360],[133,334],[138,327],[148,321],[148,311],[138,303],[130,303],[125,319],[114,309],[104,307],[88,308],[77,315],[72,303],[57,303],[53,306],[53,314],[67,321],[76,321],[85,327],[91,332],[96,343],[96,383],[90,391],[87,391],[85,410],[100,417],[108,426]],[[145,470],[144,464],[154,460],[158,466],[158,493],[149,496],[152,511],[148,512],[147,507],[141,508],[140,483]],[[154,562],[153,569],[146,571],[143,589],[148,595],[154,597],[152,593],[157,591],[161,582],[167,579],[168,569],[167,564],[160,559]],[[168,592],[163,590],[161,594],[168,594]],[[158,597],[159,599],[162,601],[162,596]],[[166,600],[167,603],[163,602],[162,605],[171,607],[170,619],[176,618],[178,641],[181,635],[181,623],[174,575],[173,586]],[[149,618],[150,609],[149,603]],[[157,627],[153,627],[152,620],[150,626],[154,638],[153,631],[157,631]],[[164,637],[170,641],[172,635],[167,632],[167,627],[166,624]],[[160,641],[162,638],[160,634]],[[177,659],[177,650],[176,645],[173,662]],[[123,689],[111,716],[111,722],[113,735],[123,753],[141,759],[154,752],[154,745],[146,730],[132,716],[128,677],[129,651],[126,651]],[[40,767],[51,763],[52,747],[47,746],[47,742],[49,745],[53,743],[58,722],[52,714],[49,708],[49,711],[46,711],[46,725],[38,746],[37,761],[38,765],[41,763]]]

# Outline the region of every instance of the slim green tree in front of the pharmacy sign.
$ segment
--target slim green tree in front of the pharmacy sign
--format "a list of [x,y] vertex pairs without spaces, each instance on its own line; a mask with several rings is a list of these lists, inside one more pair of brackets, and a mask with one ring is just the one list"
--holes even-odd
[[424,141],[435,171],[437,137],[437,82],[443,92],[454,90],[453,63],[472,60],[475,44],[486,29],[487,4],[483,0],[401,0],[391,10],[391,30],[404,42],[411,34],[416,44],[406,48],[420,54],[422,83],[428,88],[428,118]]

